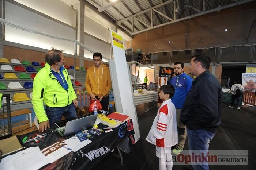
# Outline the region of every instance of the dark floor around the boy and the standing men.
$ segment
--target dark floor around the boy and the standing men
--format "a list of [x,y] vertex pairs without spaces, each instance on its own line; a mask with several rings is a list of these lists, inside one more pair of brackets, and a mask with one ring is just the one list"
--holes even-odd
[[[242,106],[241,111],[236,107],[229,108],[228,104],[222,106],[222,124],[210,142],[209,150],[248,150],[249,165],[210,165],[210,170],[255,170],[256,169],[256,107]],[[136,156],[123,153],[124,163],[120,165],[118,154],[110,154],[98,163],[95,170],[157,170],[158,158],[155,156],[155,146],[148,143],[145,138],[153,123],[157,109],[152,103],[136,106],[140,139],[136,143]],[[186,141],[184,150],[188,150]],[[111,166],[109,166],[111,165]],[[190,165],[174,165],[173,170],[183,170]]]

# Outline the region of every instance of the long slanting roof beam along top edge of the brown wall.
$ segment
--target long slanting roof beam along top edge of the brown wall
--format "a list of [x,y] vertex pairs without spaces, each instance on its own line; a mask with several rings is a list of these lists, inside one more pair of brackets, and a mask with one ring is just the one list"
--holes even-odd
[[174,23],[181,22],[181,21],[184,21],[184,20],[188,20],[188,19],[191,19],[191,18],[195,18],[195,17],[198,17],[198,16],[206,15],[208,13],[219,12],[219,11],[221,11],[223,9],[235,7],[235,6],[242,5],[242,4],[245,4],[245,3],[249,3],[249,2],[252,2],[252,1],[254,1],[254,0],[244,0],[244,1],[239,1],[237,3],[225,5],[223,7],[219,6],[218,8],[215,8],[215,9],[211,9],[211,10],[208,10],[208,11],[205,11],[205,12],[200,12],[200,13],[197,13],[195,15],[191,15],[191,16],[187,16],[187,17],[184,17],[184,18],[176,19],[174,21],[170,21],[170,22],[167,22],[167,23],[159,24],[157,26],[153,26],[151,28],[147,28],[145,30],[138,31],[138,32],[133,33],[131,35],[140,34],[140,33],[145,32],[145,31],[153,30],[155,28],[163,27],[163,26],[166,26],[166,25],[169,25],[169,24],[174,24]]

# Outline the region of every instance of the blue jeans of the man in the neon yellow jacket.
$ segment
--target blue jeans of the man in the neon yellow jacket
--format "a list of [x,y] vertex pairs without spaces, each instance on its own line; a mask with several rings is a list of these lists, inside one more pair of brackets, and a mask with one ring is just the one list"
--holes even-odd
[[50,127],[52,127],[54,122],[60,121],[63,115],[66,117],[66,119],[77,117],[75,105],[73,103],[65,107],[46,106],[45,113],[49,119]]

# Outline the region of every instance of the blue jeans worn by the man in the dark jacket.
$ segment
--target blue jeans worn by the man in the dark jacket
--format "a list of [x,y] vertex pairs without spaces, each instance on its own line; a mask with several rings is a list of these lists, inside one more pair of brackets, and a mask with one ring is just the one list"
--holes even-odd
[[[198,130],[190,130],[187,128],[188,135],[188,148],[190,155],[192,155],[192,151],[198,151],[197,154],[201,155],[202,152],[204,155],[208,152],[210,140],[214,137],[215,133],[206,131],[203,129]],[[197,155],[195,154],[195,155]],[[208,170],[208,163],[203,162],[192,162],[192,167],[194,170]]]

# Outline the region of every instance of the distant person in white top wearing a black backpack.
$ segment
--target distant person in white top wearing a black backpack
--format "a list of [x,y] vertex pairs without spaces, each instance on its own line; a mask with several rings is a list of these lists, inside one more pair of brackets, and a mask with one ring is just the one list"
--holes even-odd
[[240,111],[242,92],[244,92],[244,86],[240,84],[239,80],[235,81],[235,84],[231,87],[230,92],[232,92],[231,105],[230,108],[234,107],[235,100],[237,100],[237,110]]

